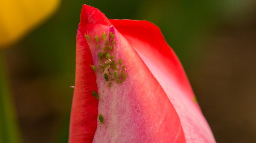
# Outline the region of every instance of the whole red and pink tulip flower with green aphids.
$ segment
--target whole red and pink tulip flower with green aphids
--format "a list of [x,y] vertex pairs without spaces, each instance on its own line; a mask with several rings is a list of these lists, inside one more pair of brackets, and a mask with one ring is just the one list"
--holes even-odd
[[147,21],[83,5],[69,143],[215,143],[178,57]]

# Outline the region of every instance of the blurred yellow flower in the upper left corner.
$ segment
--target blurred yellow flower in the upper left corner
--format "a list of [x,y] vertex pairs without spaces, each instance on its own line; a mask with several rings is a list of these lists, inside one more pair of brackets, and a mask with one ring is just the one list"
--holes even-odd
[[60,0],[0,0],[0,49],[45,21],[59,3]]

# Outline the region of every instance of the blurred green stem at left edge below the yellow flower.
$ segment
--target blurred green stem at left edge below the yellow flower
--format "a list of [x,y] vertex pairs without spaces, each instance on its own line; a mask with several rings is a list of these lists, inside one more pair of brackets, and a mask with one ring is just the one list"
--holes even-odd
[[0,51],[0,143],[20,143],[21,135],[4,59],[4,53]]

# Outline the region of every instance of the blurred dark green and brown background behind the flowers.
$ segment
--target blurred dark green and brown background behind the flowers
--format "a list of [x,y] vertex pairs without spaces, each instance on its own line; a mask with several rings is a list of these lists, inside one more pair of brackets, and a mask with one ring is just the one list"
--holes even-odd
[[0,94],[8,93],[13,102],[10,119],[17,117],[20,129],[13,132],[21,133],[22,142],[68,141],[82,4],[109,19],[159,26],[181,60],[216,141],[256,142],[255,0],[61,1],[46,22],[1,52]]

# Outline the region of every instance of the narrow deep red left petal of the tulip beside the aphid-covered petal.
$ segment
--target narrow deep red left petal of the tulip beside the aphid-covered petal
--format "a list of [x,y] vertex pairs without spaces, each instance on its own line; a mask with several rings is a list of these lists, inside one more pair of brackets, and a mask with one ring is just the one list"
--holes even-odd
[[92,54],[80,29],[76,36],[75,89],[70,117],[69,143],[92,142],[97,128],[98,100],[92,98],[91,90],[97,92],[96,75],[90,65]]

